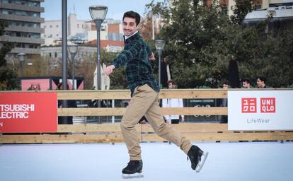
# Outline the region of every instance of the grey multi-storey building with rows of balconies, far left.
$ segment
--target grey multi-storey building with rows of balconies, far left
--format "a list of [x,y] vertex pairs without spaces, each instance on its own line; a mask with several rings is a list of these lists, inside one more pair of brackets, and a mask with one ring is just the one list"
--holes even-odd
[[0,19],[8,23],[4,35],[0,37],[0,47],[5,42],[12,42],[15,48],[8,55],[40,54],[40,46],[45,40],[41,38],[44,29],[41,23],[44,12],[41,2],[44,0],[0,0]]

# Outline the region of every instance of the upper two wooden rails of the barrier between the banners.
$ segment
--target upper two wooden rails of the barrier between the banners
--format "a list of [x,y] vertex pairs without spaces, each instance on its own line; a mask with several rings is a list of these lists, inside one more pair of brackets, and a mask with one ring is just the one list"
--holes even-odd
[[[58,100],[125,100],[130,99],[130,91],[57,91]],[[163,90],[159,98],[205,99],[226,98],[226,91],[219,89]],[[59,116],[111,116],[123,115],[126,108],[63,108],[58,109]],[[227,115],[226,107],[183,107],[161,108],[163,115]]]

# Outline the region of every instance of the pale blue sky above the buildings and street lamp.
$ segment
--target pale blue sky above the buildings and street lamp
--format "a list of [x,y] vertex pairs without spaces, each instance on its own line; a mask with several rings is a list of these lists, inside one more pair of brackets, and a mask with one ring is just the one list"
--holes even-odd
[[[145,5],[150,2],[151,0],[67,0],[67,13],[76,13],[78,20],[91,20],[89,6],[108,6],[106,18],[121,20],[126,11],[136,11],[143,16]],[[41,13],[45,21],[61,20],[62,0],[45,0],[41,6],[45,8],[45,12]]]

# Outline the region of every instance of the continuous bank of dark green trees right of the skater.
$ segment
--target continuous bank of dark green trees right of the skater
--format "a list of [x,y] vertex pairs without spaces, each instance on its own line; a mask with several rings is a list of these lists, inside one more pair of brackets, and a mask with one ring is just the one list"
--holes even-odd
[[236,57],[240,78],[254,82],[257,76],[265,76],[271,86],[292,85],[293,33],[274,30],[265,34],[273,17],[245,27],[223,15],[219,6],[205,6],[202,0],[173,1],[172,6],[152,1],[146,8],[146,13],[164,18],[157,38],[167,42],[163,56],[171,57],[173,78],[180,88],[219,86],[231,57]]

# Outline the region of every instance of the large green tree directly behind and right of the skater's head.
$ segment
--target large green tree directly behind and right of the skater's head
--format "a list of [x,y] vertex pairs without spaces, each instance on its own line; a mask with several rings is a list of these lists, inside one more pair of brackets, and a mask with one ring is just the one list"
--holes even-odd
[[[218,72],[224,66],[225,59],[212,59],[213,53],[207,54],[214,40],[225,38],[223,27],[227,26],[229,18],[224,16],[219,6],[204,6],[198,1],[173,1],[146,5],[146,8],[162,18],[165,26],[158,38],[167,40],[164,56],[171,58],[173,78],[180,88],[195,88],[197,86],[214,87],[219,78]],[[216,63],[218,60],[222,62]],[[215,62],[216,61],[216,62]],[[213,65],[213,66],[211,66]],[[217,66],[215,66],[217,65]]]

